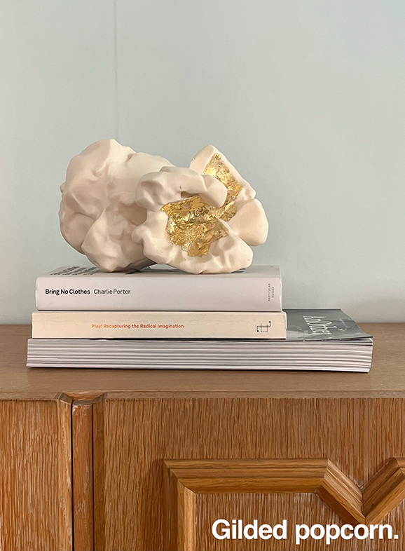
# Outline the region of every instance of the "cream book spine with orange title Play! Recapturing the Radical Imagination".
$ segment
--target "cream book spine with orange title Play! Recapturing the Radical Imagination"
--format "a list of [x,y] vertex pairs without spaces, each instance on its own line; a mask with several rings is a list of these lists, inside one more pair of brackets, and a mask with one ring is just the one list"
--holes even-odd
[[284,312],[34,312],[34,339],[285,339]]

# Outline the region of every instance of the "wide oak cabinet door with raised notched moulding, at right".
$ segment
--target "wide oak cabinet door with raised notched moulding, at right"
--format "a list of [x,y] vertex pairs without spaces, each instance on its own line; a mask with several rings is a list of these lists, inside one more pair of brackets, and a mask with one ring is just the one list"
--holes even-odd
[[[107,396],[92,411],[95,549],[324,550],[296,547],[295,525],[382,519],[397,539],[335,547],[404,549],[404,404]],[[286,519],[287,539],[218,540],[217,519]]]

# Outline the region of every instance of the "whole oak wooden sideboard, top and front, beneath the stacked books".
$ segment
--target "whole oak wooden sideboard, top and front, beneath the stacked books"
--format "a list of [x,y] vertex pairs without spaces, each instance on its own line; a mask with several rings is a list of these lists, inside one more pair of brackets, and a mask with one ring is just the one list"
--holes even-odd
[[[405,324],[362,327],[369,374],[30,369],[0,327],[0,550],[404,550]],[[398,538],[294,543],[374,522]]]

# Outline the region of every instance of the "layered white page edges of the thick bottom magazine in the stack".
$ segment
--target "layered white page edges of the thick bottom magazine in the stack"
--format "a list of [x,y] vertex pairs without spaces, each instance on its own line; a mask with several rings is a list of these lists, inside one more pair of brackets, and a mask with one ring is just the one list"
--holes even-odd
[[30,367],[368,372],[373,341],[29,339]]

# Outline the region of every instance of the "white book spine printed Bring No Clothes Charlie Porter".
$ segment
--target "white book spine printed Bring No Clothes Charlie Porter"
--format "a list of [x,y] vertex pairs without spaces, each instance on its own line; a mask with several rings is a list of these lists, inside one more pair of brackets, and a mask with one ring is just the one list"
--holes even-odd
[[41,276],[36,308],[50,311],[280,312],[280,277]]

